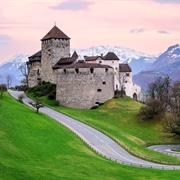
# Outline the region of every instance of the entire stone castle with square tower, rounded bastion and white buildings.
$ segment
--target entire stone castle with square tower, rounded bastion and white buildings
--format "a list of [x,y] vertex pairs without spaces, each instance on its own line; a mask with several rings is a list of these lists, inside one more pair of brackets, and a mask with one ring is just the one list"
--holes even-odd
[[90,109],[124,92],[140,100],[141,88],[132,82],[128,64],[119,64],[113,52],[80,58],[70,55],[70,38],[54,26],[42,39],[41,51],[29,57],[28,84],[56,84],[59,105]]

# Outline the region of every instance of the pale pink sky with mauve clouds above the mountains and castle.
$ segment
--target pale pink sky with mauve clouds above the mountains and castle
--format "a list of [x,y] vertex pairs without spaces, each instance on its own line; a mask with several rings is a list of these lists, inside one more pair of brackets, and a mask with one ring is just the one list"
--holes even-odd
[[180,0],[0,0],[0,64],[32,55],[56,24],[71,47],[128,47],[147,54],[180,44]]

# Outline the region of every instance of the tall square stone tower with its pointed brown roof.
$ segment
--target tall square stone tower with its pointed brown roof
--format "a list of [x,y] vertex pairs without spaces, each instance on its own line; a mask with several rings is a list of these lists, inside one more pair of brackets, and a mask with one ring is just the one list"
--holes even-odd
[[64,57],[70,57],[70,38],[54,26],[41,39],[42,81],[55,83],[52,67]]

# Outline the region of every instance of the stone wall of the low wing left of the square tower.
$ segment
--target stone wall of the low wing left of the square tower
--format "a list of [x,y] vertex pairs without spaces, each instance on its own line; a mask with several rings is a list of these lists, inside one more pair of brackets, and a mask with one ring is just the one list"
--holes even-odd
[[28,64],[28,83],[33,87],[41,82],[41,62],[31,62]]

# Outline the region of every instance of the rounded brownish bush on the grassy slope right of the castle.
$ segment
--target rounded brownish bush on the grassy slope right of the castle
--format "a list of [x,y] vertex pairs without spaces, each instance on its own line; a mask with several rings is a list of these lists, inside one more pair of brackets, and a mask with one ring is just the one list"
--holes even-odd
[[150,99],[145,106],[141,107],[138,115],[141,119],[153,119],[163,112],[165,112],[165,109],[162,102],[159,99]]

